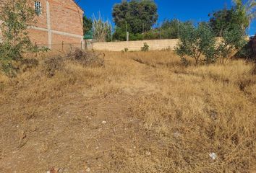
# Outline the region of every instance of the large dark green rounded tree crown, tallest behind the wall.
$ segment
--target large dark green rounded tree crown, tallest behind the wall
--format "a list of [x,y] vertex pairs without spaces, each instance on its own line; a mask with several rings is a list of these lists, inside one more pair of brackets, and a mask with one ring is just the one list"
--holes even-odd
[[134,34],[150,30],[158,19],[153,0],[122,1],[114,5],[112,16],[117,27],[129,27]]

